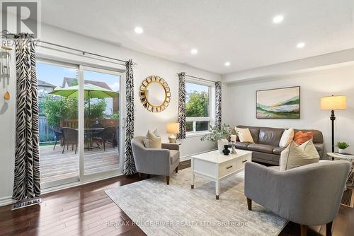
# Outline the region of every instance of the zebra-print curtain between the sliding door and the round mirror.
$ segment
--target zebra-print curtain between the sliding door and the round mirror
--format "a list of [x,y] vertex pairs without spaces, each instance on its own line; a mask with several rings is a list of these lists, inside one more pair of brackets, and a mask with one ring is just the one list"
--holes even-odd
[[125,99],[127,109],[127,119],[125,122],[125,149],[124,149],[124,175],[133,175],[135,169],[132,154],[132,138],[134,138],[134,76],[132,70],[132,60],[127,61],[125,76]]

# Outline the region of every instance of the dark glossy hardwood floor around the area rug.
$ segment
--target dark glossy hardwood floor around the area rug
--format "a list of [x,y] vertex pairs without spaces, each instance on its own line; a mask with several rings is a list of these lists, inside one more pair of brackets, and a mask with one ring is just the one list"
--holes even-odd
[[[178,168],[189,166],[188,162],[181,163]],[[16,211],[11,211],[11,206],[2,206],[0,235],[145,235],[104,192],[137,181],[138,175],[120,176],[44,194],[40,205]],[[299,233],[299,225],[288,223],[280,235]],[[323,225],[309,228],[307,235],[325,234],[326,225]],[[353,208],[341,206],[333,222],[333,235],[354,235]]]

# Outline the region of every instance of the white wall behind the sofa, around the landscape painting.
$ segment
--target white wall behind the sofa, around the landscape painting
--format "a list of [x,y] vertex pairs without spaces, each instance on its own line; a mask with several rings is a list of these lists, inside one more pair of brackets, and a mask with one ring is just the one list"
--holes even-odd
[[[232,76],[227,75],[229,80]],[[256,119],[256,90],[299,85],[300,119]],[[328,95],[346,95],[347,110],[336,111],[336,141],[347,141],[354,153],[354,66],[341,66],[291,76],[260,78],[227,85],[224,122],[250,126],[294,127],[319,129],[324,133],[326,150],[331,151],[330,111],[320,110],[319,98]]]

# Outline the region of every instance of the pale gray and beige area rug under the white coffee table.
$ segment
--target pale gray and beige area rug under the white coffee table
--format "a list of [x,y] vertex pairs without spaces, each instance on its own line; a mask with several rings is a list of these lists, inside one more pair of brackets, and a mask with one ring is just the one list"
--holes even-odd
[[[287,220],[253,202],[247,209],[244,172],[220,184],[195,177],[190,189],[190,168],[165,177],[153,177],[106,192],[135,225],[147,235],[278,235]],[[255,181],[257,181],[255,179]]]

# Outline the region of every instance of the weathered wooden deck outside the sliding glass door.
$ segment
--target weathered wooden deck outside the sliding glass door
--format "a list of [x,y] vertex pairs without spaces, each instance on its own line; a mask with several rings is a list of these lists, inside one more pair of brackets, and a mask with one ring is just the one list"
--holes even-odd
[[[54,145],[40,146],[40,177],[41,182],[52,182],[59,179],[79,176],[79,151],[75,154],[72,147],[65,148]],[[117,170],[119,166],[119,148],[108,145],[101,149],[85,150],[84,175],[108,170]]]

